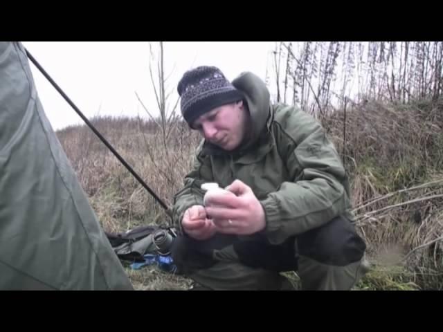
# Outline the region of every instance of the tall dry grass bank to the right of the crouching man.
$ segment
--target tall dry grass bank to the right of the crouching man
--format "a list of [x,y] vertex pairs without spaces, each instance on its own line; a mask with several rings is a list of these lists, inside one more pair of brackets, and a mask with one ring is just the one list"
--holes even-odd
[[[341,152],[343,119],[342,111],[323,119]],[[348,110],[346,137],[354,212],[370,259],[385,269],[406,266],[411,282],[442,289],[442,100],[368,102]]]

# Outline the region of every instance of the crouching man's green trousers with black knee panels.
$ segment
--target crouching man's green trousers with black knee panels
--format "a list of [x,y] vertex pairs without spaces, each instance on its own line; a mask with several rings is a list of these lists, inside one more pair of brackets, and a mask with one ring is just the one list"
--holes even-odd
[[264,238],[217,234],[208,241],[177,237],[179,269],[210,289],[280,289],[280,272],[297,271],[303,289],[350,289],[361,276],[365,243],[343,216],[290,237],[278,246]]

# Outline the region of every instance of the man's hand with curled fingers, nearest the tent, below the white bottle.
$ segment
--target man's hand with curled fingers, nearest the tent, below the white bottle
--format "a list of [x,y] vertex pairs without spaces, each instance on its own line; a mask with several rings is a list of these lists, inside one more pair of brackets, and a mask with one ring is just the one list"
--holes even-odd
[[203,205],[193,205],[186,210],[181,226],[186,234],[197,240],[209,239],[216,232],[215,225],[207,218]]

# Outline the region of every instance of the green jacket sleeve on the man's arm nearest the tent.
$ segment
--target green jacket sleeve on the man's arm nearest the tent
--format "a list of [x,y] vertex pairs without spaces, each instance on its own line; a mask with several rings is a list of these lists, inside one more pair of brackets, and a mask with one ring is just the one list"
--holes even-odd
[[203,205],[204,190],[201,184],[213,181],[213,171],[210,156],[202,152],[203,142],[197,148],[192,162],[191,171],[186,174],[183,188],[174,195],[172,205],[172,219],[175,227],[181,230],[181,219],[183,214],[192,205]]

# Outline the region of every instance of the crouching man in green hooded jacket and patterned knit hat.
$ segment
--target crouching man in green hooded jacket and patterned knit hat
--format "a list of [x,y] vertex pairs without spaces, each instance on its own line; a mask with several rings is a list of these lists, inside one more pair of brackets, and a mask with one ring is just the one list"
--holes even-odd
[[[348,178],[325,131],[295,107],[273,105],[259,77],[232,83],[219,68],[186,72],[183,118],[204,140],[174,196],[173,257],[212,290],[279,290],[298,271],[305,290],[349,290],[365,243],[352,225]],[[231,194],[211,195],[216,182]]]

